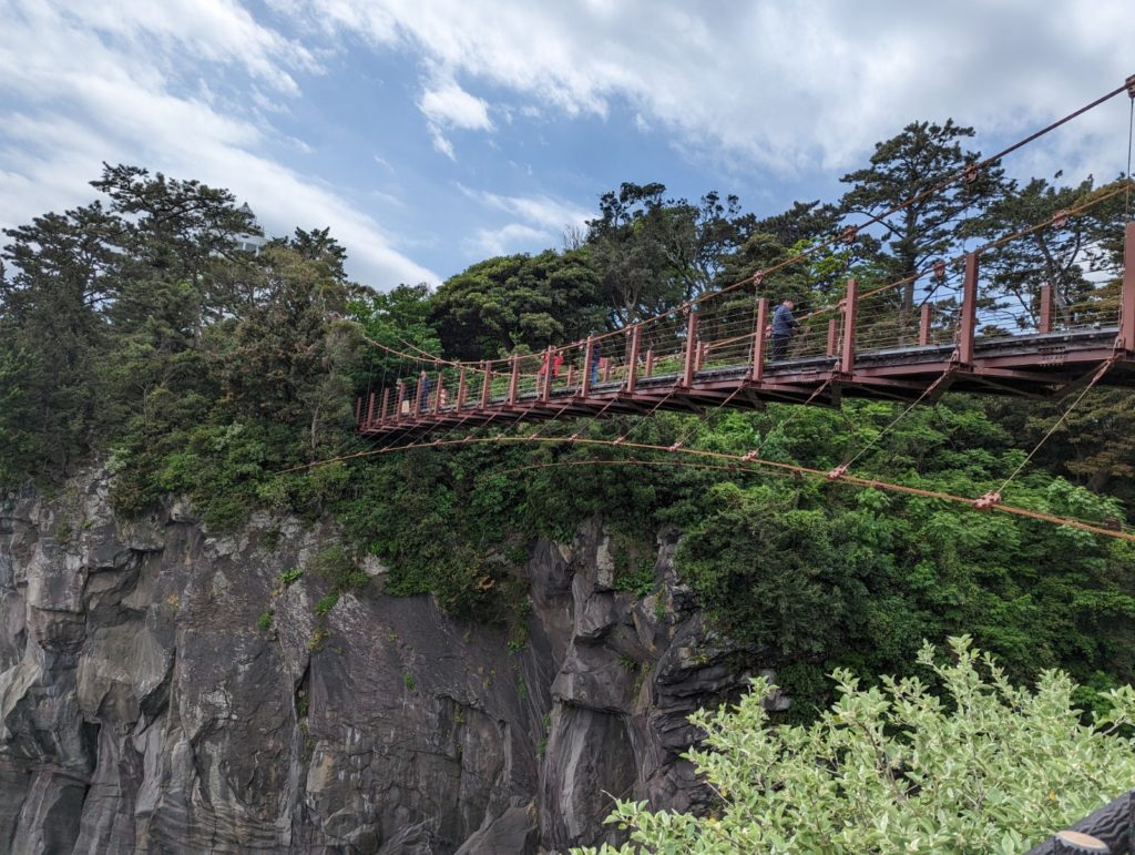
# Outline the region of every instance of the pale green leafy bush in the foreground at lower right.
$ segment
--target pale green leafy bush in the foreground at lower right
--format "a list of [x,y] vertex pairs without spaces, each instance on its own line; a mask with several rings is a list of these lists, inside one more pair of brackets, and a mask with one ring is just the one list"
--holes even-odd
[[941,685],[834,674],[839,698],[818,721],[770,727],[762,678],[732,709],[699,712],[705,751],[689,757],[720,795],[708,816],[649,813],[619,802],[620,849],[578,853],[1019,853],[1121,794],[1135,780],[1135,689],[1108,693],[1095,726],[1073,707],[1075,685],[1045,671],[1035,690],[1009,682],[968,637],[940,663]]

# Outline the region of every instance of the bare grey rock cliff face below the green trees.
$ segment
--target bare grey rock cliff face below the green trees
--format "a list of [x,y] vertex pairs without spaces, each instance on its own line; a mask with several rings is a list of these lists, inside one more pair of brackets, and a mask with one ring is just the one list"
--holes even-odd
[[686,716],[740,690],[743,652],[703,626],[673,537],[646,598],[614,590],[598,520],[538,542],[510,645],[382,596],[377,563],[317,617],[326,581],[286,575],[329,523],[127,522],[107,488],[0,506],[0,849],[530,853],[609,839],[613,796],[704,803]]

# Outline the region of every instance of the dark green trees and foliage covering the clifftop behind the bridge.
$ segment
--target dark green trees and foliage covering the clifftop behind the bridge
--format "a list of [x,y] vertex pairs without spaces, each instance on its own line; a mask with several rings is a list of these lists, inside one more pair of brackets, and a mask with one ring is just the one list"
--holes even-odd
[[[390,567],[389,593],[429,593],[489,621],[523,617],[521,564],[535,536],[570,538],[602,515],[624,556],[620,585],[645,595],[654,581],[642,562],[670,527],[681,534],[679,570],[725,631],[776,667],[796,718],[826,703],[823,674],[833,668],[901,670],[923,638],[962,631],[1015,678],[1067,669],[1090,687],[1084,703],[1095,703],[1093,693],[1135,676],[1125,630],[1135,561],[1121,542],[933,500],[556,442],[574,433],[681,438],[831,468],[877,437],[897,405],[620,417],[543,425],[539,445],[382,454],[354,435],[358,397],[430,367],[393,351],[468,360],[539,351],[667,311],[804,249],[815,251],[765,277],[762,293],[827,305],[849,275],[884,282],[1096,192],[1091,182],[1022,187],[993,170],[851,243],[816,249],[859,212],[885,210],[980,159],[961,146],[970,136],[952,123],[915,123],[846,177],[839,204],[798,202],[765,219],[734,196],[689,202],[661,184],[623,184],[562,251],[486,259],[436,291],[384,293],[347,278],[345,252],[326,229],[244,252],[237,246],[258,227],[230,193],[107,167],[93,183],[99,201],[6,233],[0,486],[58,484],[98,458],[127,514],[171,493],[190,496],[213,528],[257,508],[330,513],[353,558],[370,553]],[[1119,217],[1103,206],[1067,240],[991,259],[994,291],[1024,299],[1046,283],[1065,302],[1078,299],[1116,258]],[[753,296],[731,299],[748,305]],[[915,296],[896,293],[894,308]],[[913,411],[856,470],[977,496],[1017,467],[1054,412],[948,396]],[[1130,412],[1128,394],[1093,393],[1007,498],[1123,519],[1135,471]],[[575,466],[596,460],[611,464]]]

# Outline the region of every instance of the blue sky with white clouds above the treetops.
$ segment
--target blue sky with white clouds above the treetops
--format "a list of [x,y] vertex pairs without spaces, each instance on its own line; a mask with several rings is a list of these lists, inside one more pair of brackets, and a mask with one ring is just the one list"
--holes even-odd
[[[1037,9],[1042,12],[1037,12]],[[915,118],[1007,141],[1135,74],[1129,0],[0,0],[0,227],[102,161],[330,226],[379,290],[561,245],[623,181],[834,200]],[[1116,99],[1007,164],[1108,179]]]

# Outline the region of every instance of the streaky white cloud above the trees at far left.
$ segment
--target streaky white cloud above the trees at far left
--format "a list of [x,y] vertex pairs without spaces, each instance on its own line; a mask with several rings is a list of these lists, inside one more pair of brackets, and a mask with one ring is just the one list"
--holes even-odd
[[212,90],[185,94],[175,73],[202,73],[204,59],[286,94],[288,69],[314,70],[310,51],[228,0],[158,6],[0,0],[0,226],[90,201],[102,161],[131,162],[230,188],[271,234],[330,226],[352,273],[376,287],[438,280],[335,188],[263,153],[299,141],[255,123],[254,110],[218,106]]

